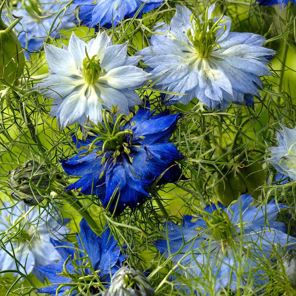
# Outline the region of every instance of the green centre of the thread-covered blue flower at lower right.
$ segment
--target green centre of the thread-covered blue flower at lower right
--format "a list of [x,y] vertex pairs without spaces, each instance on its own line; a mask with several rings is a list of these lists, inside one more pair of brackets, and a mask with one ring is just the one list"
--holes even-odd
[[222,241],[224,245],[228,244],[233,232],[228,215],[224,211],[215,210],[205,221],[215,240]]

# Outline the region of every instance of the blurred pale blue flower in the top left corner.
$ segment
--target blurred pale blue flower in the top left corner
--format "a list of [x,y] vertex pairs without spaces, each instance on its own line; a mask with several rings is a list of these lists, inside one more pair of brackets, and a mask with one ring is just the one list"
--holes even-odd
[[69,1],[61,3],[57,0],[17,3],[12,15],[23,16],[15,30],[22,46],[28,49],[28,52],[25,52],[28,59],[30,53],[42,47],[45,37],[59,37],[60,30],[75,27],[76,5],[71,5],[70,8],[69,5]]

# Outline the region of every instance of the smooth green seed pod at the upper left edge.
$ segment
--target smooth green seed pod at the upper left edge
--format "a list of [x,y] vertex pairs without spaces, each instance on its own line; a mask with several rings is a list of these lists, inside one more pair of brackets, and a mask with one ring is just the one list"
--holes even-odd
[[[3,5],[4,1],[0,5],[0,13]],[[17,18],[7,27],[0,18],[0,79],[9,84],[16,84],[25,66],[23,48],[12,30],[21,19]]]

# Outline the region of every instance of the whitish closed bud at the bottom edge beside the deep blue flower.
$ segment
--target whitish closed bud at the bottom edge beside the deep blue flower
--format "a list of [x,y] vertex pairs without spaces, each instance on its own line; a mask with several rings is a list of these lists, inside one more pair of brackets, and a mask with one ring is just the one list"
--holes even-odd
[[154,289],[139,270],[121,267],[112,277],[111,286],[104,296],[153,296]]

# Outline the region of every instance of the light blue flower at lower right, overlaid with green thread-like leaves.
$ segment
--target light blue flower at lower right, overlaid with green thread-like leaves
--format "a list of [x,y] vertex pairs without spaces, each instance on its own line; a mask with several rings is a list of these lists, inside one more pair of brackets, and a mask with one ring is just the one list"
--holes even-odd
[[[190,278],[201,282],[213,278],[215,285],[210,285],[215,287],[215,293],[223,288],[236,291],[237,285],[248,282],[250,273],[254,283],[262,284],[264,272],[260,260],[262,263],[268,259],[276,244],[280,254],[281,247],[296,242],[284,232],[285,224],[276,221],[279,209],[284,207],[272,200],[257,208],[252,196],[245,194],[228,208],[212,204],[202,211],[203,215],[184,216],[183,226],[167,222],[168,241],[160,239],[155,246],[169,258],[169,245],[170,259],[184,266],[180,273],[188,270]],[[243,272],[241,282],[237,283],[239,270]],[[204,295],[206,283],[199,282],[194,287]]]

